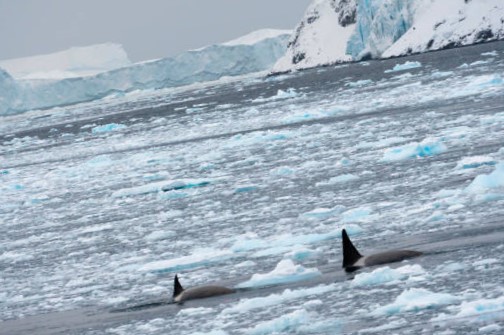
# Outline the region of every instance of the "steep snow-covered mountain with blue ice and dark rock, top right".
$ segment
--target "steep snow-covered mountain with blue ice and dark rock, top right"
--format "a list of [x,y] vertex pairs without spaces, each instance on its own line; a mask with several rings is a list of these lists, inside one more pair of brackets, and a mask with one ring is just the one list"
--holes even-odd
[[314,0],[272,71],[501,38],[502,0]]

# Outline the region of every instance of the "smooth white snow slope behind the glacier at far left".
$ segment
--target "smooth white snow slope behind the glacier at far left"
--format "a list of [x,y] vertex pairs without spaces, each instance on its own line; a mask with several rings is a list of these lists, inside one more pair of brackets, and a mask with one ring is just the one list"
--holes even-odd
[[16,79],[75,78],[129,65],[131,62],[123,47],[113,43],[0,61],[0,67]]

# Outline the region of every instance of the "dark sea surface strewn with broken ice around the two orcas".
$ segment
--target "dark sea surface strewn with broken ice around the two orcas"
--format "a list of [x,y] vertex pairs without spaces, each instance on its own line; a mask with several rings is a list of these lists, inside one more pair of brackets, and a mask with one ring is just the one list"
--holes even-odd
[[4,117],[0,334],[500,334],[503,93],[490,43]]

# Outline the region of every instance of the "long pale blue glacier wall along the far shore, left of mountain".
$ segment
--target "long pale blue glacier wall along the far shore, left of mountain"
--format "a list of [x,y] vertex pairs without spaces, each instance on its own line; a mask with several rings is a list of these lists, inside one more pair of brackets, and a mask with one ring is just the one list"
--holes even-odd
[[[261,30],[223,44],[190,50],[175,57],[78,78],[16,80],[2,74],[1,87],[8,95],[0,115],[74,104],[146,89],[183,86],[265,71],[285,53],[290,31]],[[4,94],[3,94],[4,95]]]

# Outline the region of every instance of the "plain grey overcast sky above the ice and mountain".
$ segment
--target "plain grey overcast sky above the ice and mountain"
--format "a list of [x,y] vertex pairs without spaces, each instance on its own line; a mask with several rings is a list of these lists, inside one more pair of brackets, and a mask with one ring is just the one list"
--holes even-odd
[[311,0],[0,0],[0,60],[120,43],[132,61],[261,28],[293,29]]

